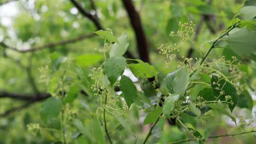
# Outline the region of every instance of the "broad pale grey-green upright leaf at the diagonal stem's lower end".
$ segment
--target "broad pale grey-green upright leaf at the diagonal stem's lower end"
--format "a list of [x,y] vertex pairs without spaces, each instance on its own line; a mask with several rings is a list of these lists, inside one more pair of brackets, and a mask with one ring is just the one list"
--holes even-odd
[[177,72],[173,82],[174,93],[184,94],[189,83],[189,72],[186,68],[182,68],[179,72]]

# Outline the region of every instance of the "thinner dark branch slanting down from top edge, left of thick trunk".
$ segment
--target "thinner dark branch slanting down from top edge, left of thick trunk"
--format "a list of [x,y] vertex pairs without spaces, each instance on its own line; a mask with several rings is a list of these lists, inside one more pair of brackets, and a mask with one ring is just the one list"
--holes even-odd
[[82,6],[76,0],[70,0],[70,1],[73,3],[73,5],[76,7],[76,9],[78,9],[79,12],[84,17],[89,18],[94,23],[94,25],[97,27],[98,30],[103,29],[103,27],[101,26],[101,23],[98,20],[98,18],[91,15],[91,13],[89,11],[87,11],[86,9],[83,9]]

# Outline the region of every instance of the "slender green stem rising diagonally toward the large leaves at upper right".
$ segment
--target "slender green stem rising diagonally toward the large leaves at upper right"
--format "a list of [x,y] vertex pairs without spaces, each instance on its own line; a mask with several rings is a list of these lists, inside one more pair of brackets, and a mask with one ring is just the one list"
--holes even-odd
[[[232,25],[225,33],[223,33],[222,35],[220,35],[217,39],[215,39],[215,40],[213,41],[213,43],[210,45],[210,49],[209,49],[208,52],[202,57],[201,62],[199,63],[199,65],[202,65],[202,63],[205,61],[206,57],[210,54],[210,51],[215,47],[215,44],[219,41],[219,39],[222,38],[223,36],[228,35],[229,32],[230,32],[232,29],[234,29],[235,27],[238,26],[238,24],[239,24],[239,22],[236,23],[236,24],[234,24],[234,25]],[[192,75],[193,75],[196,71],[197,71],[197,69],[195,69],[195,70],[190,74],[189,77],[192,77]]]

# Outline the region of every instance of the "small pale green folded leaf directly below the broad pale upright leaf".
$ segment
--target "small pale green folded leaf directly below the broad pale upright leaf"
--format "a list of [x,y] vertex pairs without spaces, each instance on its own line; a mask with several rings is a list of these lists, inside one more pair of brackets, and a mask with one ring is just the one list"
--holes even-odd
[[180,95],[169,95],[164,102],[163,113],[165,117],[170,119],[170,114],[174,110],[175,102],[179,99]]

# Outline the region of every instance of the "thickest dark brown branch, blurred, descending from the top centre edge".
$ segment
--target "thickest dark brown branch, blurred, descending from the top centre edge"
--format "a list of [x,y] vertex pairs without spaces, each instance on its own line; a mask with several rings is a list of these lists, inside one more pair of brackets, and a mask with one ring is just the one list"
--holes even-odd
[[146,36],[141,24],[140,17],[132,3],[132,0],[122,0],[122,1],[128,13],[130,23],[136,34],[137,50],[138,50],[140,59],[144,62],[149,62]]

